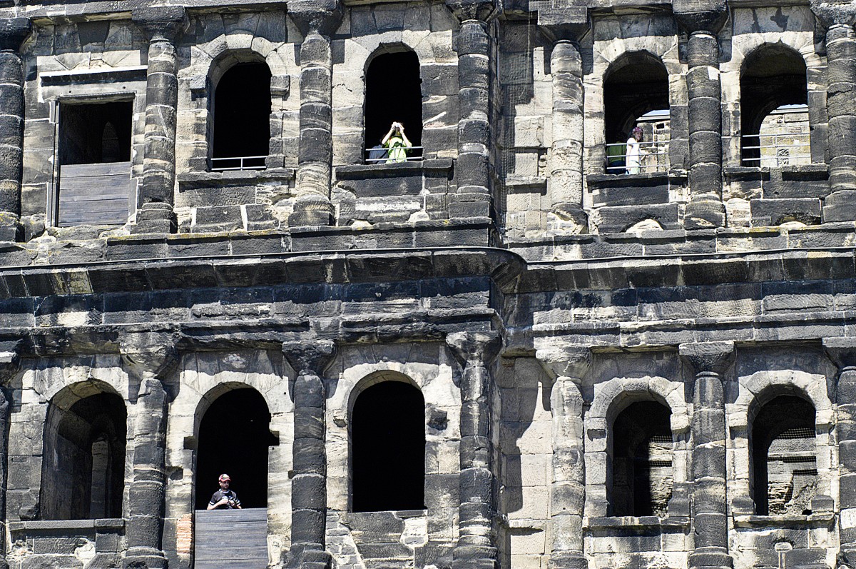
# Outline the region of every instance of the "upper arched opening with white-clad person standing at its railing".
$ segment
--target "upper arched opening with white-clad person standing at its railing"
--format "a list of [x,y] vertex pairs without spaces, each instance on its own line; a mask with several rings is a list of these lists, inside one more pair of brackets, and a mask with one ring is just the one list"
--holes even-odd
[[[645,51],[626,53],[603,77],[607,173],[645,174],[669,170],[669,72]],[[633,129],[639,147],[628,150]]]

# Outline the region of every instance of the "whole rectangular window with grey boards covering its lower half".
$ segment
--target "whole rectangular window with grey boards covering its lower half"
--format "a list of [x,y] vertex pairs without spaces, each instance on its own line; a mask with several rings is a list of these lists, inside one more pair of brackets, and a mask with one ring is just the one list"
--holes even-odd
[[60,104],[56,225],[128,221],[132,103]]

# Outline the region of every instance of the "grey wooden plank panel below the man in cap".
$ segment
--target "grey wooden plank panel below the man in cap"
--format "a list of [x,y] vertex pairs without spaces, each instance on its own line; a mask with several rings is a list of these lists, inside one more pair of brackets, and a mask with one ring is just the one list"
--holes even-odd
[[267,508],[197,510],[195,569],[265,569]]

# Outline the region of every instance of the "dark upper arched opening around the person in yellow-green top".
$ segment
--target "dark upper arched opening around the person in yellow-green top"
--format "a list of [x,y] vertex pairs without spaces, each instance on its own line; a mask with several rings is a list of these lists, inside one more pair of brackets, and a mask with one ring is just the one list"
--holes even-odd
[[366,71],[366,159],[370,164],[394,158],[377,149],[392,123],[404,126],[404,135],[413,145],[407,159],[421,158],[422,79],[419,57],[413,51],[381,53]]

